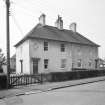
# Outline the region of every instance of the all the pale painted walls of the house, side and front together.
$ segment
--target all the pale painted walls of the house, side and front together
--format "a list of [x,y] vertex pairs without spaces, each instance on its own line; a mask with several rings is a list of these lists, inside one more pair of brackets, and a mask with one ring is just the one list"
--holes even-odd
[[[44,41],[48,42],[48,51],[44,51]],[[61,52],[60,44],[64,43],[65,52]],[[71,44],[44,39],[30,39],[16,48],[16,70],[21,72],[20,59],[23,59],[23,72],[33,73],[32,58],[39,58],[38,72],[61,72],[70,71],[73,67],[77,68],[78,59],[82,60],[81,68],[95,68],[95,59],[98,58],[97,47]],[[48,69],[44,69],[44,59],[49,59]],[[65,69],[61,68],[61,59],[67,59]],[[92,60],[92,66],[88,66],[89,60]]]

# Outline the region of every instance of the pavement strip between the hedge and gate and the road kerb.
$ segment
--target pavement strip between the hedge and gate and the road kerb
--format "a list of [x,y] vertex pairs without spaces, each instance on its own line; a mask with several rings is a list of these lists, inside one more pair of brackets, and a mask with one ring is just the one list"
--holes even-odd
[[76,85],[83,85],[87,83],[93,83],[98,81],[104,81],[105,76],[80,79],[80,80],[70,80],[64,82],[46,82],[43,84],[30,84],[27,86],[14,87],[12,89],[0,90],[0,99],[20,96],[20,95],[29,95],[37,94],[39,92],[51,91],[59,88],[65,88]]

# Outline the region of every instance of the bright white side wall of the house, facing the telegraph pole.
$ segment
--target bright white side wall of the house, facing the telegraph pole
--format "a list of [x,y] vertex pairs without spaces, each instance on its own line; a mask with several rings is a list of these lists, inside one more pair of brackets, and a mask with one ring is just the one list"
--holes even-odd
[[29,64],[29,40],[26,40],[16,48],[16,72],[21,73],[20,59],[23,60],[23,72],[30,74]]

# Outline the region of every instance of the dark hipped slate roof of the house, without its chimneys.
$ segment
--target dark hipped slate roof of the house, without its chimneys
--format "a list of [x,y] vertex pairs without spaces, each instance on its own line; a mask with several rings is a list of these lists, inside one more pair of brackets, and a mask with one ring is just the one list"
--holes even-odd
[[58,28],[53,26],[42,26],[40,24],[35,26],[22,40],[20,40],[15,45],[15,47],[19,46],[21,43],[29,38],[49,39],[99,47],[99,45],[90,41],[78,32],[73,32],[67,29],[59,30]]

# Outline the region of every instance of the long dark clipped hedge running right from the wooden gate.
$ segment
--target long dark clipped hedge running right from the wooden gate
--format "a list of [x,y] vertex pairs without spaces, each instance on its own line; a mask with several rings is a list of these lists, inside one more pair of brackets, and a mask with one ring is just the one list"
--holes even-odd
[[[60,82],[67,80],[76,80],[97,76],[104,76],[105,70],[86,70],[86,71],[68,71],[68,72],[51,72],[43,75],[44,80],[50,82]],[[45,79],[46,78],[46,79]]]

